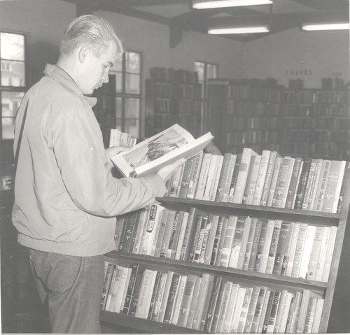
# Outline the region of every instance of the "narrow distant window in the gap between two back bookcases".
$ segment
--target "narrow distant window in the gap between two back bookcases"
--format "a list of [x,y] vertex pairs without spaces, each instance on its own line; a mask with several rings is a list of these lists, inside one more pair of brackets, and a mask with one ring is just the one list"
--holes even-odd
[[207,62],[195,62],[195,71],[198,73],[198,80],[202,84],[202,133],[207,131],[207,80],[217,78],[218,65]]

